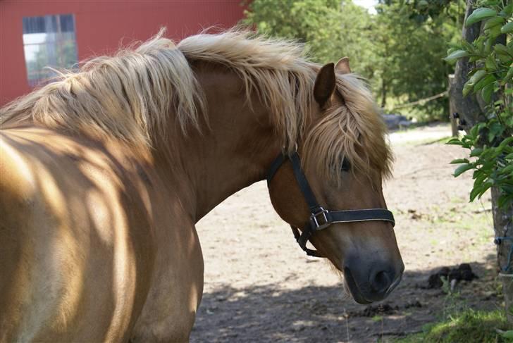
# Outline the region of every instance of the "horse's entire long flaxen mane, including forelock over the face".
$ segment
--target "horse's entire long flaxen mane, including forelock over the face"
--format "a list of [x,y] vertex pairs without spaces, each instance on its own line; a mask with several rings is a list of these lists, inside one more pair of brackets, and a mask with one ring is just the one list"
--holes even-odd
[[304,142],[305,157],[315,156],[323,175],[340,180],[342,158],[363,172],[390,173],[383,120],[357,75],[337,75],[345,105],[328,108],[306,132],[320,66],[307,61],[302,44],[245,30],[195,35],[178,44],[161,30],[136,47],[81,63],[78,71],[65,71],[0,108],[0,125],[34,123],[152,146],[167,137],[170,120],[183,132],[199,129],[202,116],[208,123],[208,104],[191,68],[201,61],[240,75],[248,101],[257,92],[270,109],[285,150]]

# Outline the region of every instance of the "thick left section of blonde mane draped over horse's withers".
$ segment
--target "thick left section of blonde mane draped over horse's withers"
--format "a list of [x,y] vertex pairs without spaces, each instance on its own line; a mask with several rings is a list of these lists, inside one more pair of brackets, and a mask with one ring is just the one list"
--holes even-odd
[[159,32],[135,49],[85,61],[78,72],[0,109],[0,125],[37,123],[92,137],[115,137],[150,146],[166,135],[173,109],[183,130],[204,111],[201,87],[185,56]]

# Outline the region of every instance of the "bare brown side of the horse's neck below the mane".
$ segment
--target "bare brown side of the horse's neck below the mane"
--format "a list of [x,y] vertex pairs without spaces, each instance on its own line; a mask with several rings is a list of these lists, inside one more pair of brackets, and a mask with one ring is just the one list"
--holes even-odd
[[[183,139],[180,155],[183,192],[180,201],[199,220],[238,190],[262,180],[280,151],[268,110],[258,96],[251,104],[237,75],[216,68],[197,72],[207,103],[209,128],[191,130]],[[180,197],[184,195],[180,194]]]

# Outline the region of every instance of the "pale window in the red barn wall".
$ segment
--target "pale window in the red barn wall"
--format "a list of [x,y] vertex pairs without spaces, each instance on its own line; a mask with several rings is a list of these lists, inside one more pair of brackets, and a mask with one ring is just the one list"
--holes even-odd
[[23,49],[30,86],[49,82],[50,68],[72,68],[77,63],[73,14],[23,18]]

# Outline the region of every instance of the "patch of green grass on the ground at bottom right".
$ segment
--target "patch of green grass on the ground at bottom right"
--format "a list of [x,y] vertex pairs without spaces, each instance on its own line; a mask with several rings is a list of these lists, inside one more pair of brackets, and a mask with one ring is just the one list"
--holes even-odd
[[397,339],[397,343],[492,343],[513,342],[502,337],[499,330],[507,330],[503,311],[474,311],[455,313],[447,320],[424,325],[423,332]]

